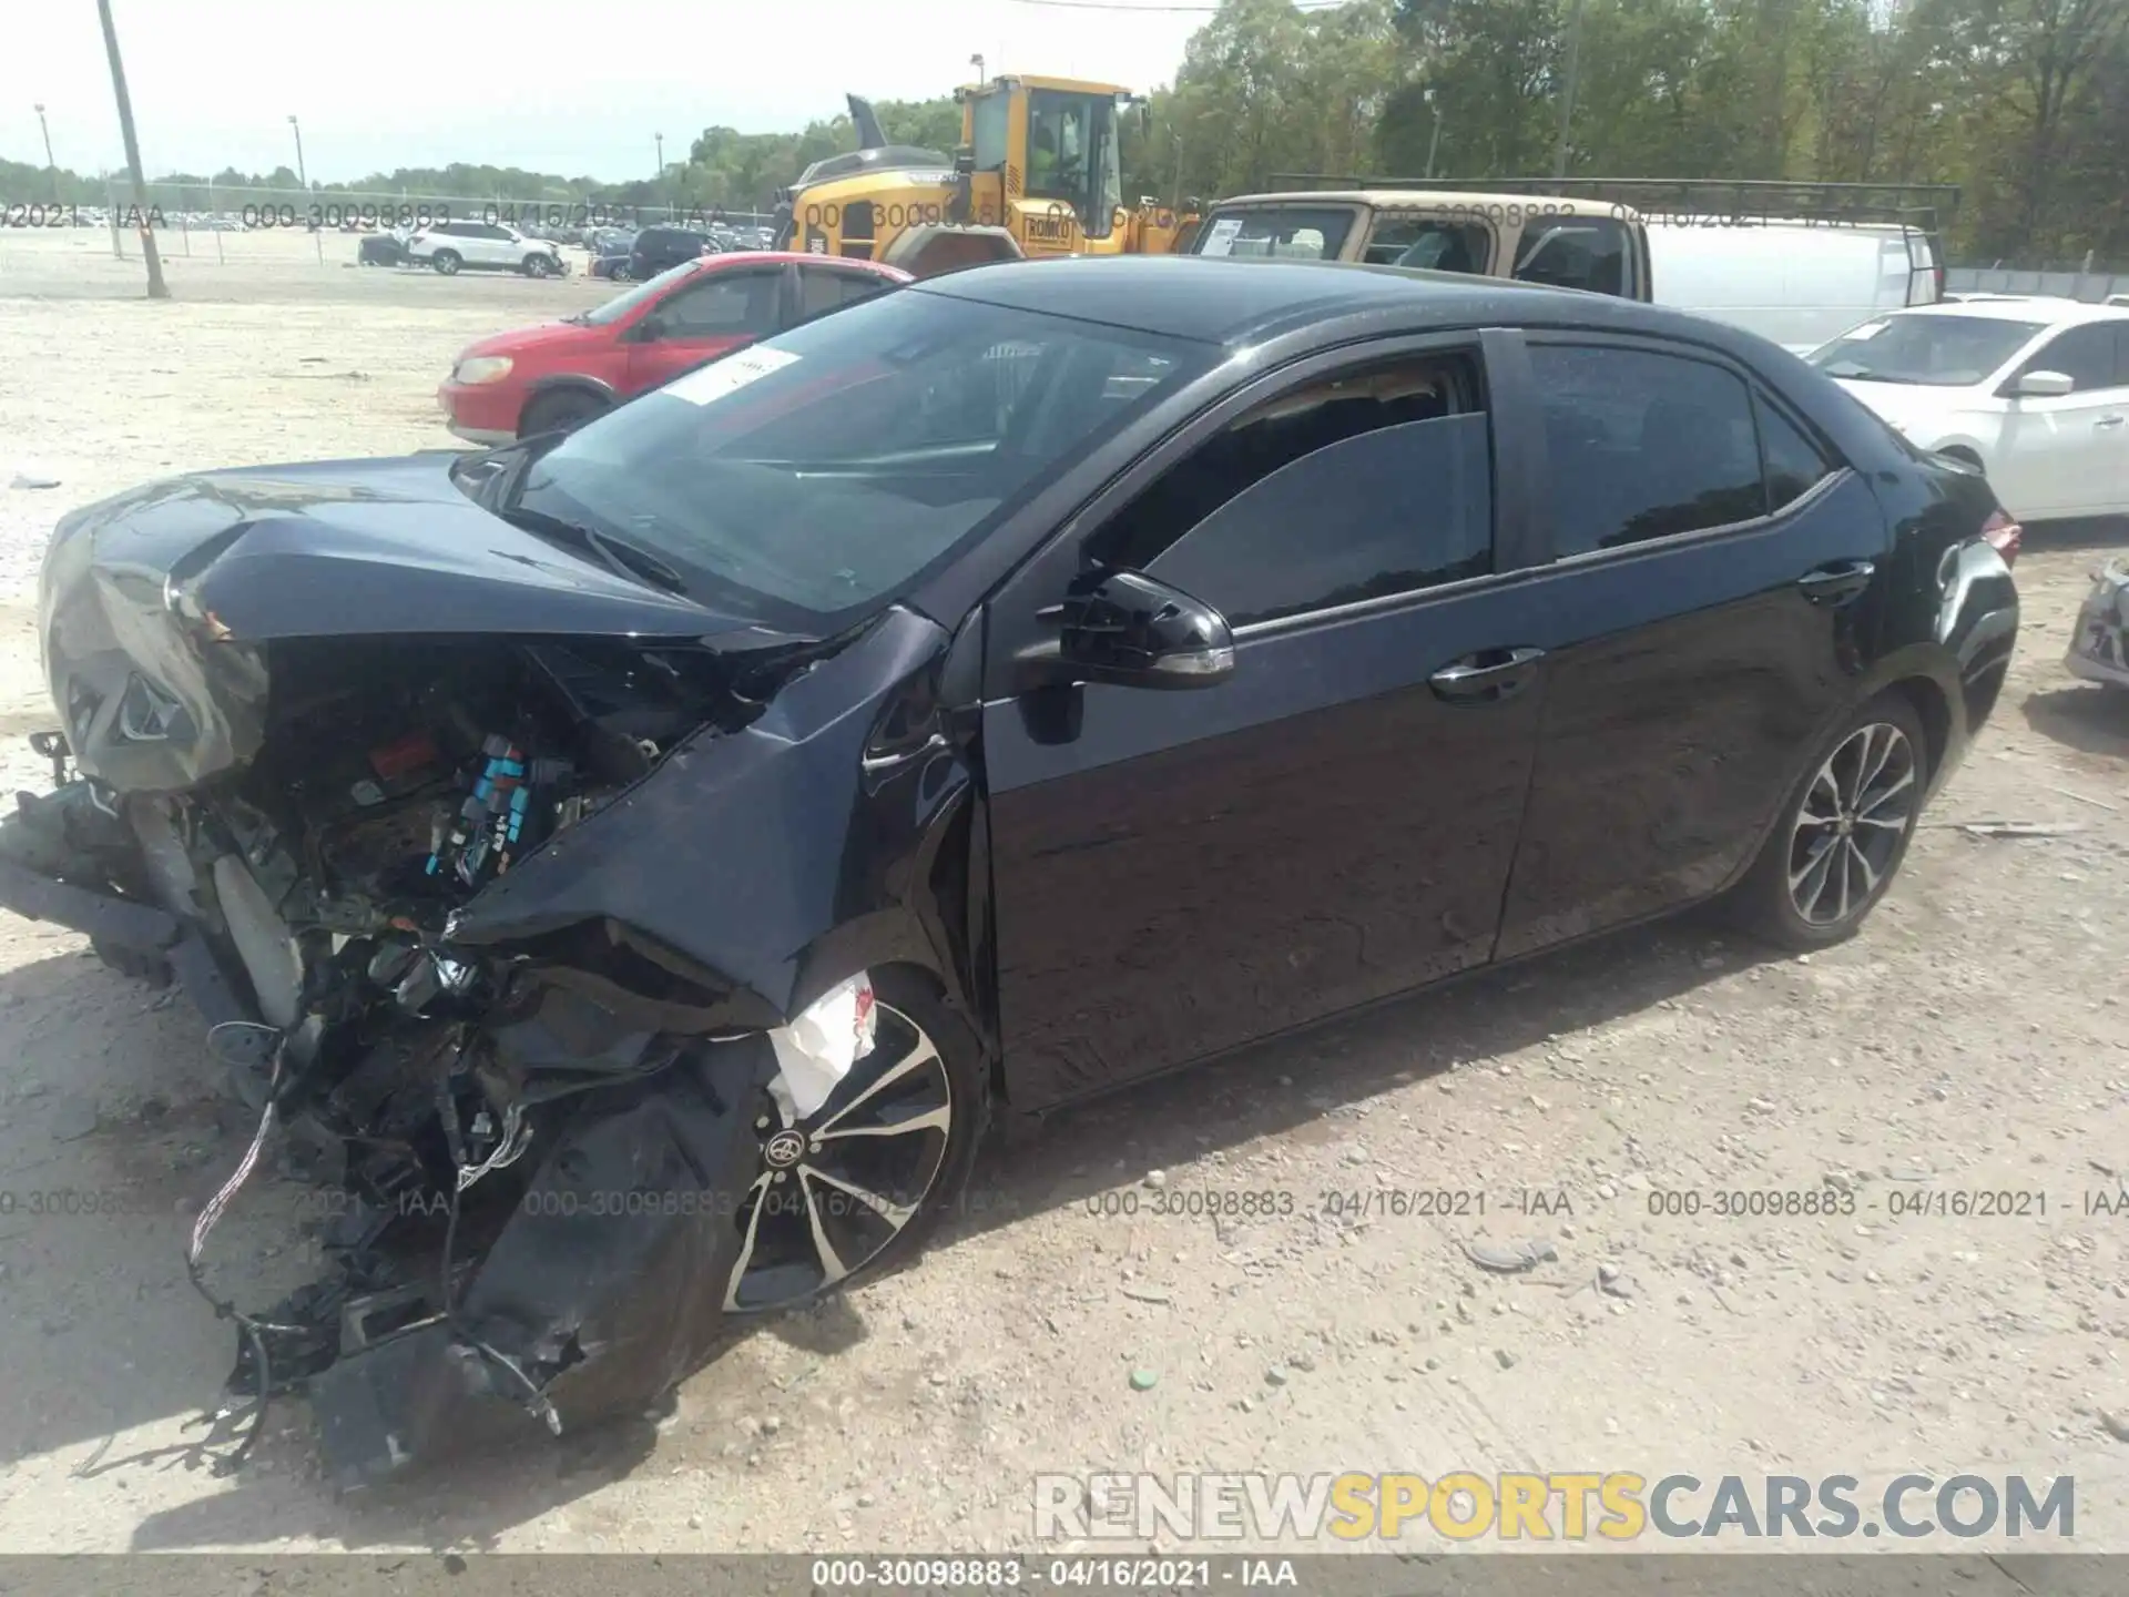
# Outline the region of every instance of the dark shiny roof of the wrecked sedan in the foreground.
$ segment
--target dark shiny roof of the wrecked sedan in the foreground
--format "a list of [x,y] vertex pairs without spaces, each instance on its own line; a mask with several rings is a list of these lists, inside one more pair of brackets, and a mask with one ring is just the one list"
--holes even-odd
[[1328,260],[1218,260],[1205,256],[1058,256],[992,262],[911,285],[1018,311],[1105,322],[1137,332],[1218,345],[1250,345],[1339,317],[1375,313],[1380,330],[1509,324],[1610,326],[1680,332],[1735,345],[1737,334],[1610,294],[1539,287],[1501,277],[1420,273]]

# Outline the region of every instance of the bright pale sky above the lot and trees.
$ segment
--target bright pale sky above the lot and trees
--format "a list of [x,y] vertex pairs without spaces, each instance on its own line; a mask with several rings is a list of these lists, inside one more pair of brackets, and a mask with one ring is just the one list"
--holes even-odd
[[[1203,6],[1201,11],[1182,6]],[[490,162],[649,177],[709,126],[803,128],[843,94],[922,100],[990,75],[1145,92],[1211,0],[113,0],[141,164],[296,166],[345,183]],[[94,0],[0,0],[0,158],[123,168]]]

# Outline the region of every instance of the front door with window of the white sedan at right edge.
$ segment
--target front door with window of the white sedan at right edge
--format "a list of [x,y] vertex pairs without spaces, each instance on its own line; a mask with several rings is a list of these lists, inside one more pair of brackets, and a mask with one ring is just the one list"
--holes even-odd
[[2012,515],[2112,515],[2129,500],[2129,349],[2114,322],[2063,328],[2027,356],[2029,371],[2065,373],[2061,396],[2014,396],[1988,462]]

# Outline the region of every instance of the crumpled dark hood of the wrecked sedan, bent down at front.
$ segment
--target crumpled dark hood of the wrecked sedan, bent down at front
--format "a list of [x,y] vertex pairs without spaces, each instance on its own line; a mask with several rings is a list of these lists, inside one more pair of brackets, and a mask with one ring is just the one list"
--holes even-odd
[[756,630],[490,515],[453,458],[196,473],[62,517],[38,622],[81,769],[170,792],[249,760],[273,639]]

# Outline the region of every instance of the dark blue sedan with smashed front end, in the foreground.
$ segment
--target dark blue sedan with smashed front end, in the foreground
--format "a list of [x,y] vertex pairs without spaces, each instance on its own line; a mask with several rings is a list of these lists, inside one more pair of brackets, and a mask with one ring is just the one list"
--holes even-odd
[[996,1107],[1716,896],[1846,937],[2003,681],[1995,520],[1644,304],[977,268],[70,513],[0,903],[181,979],[345,1192],[232,1401],[360,1480],[907,1254]]

